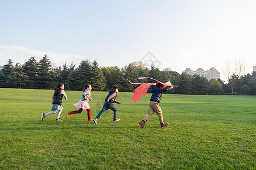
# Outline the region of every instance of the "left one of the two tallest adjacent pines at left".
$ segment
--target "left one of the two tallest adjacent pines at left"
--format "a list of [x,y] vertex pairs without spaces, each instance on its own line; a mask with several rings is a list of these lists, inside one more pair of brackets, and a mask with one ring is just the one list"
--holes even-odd
[[35,57],[31,56],[30,59],[24,63],[23,71],[28,75],[27,87],[35,88],[38,85],[38,62]]

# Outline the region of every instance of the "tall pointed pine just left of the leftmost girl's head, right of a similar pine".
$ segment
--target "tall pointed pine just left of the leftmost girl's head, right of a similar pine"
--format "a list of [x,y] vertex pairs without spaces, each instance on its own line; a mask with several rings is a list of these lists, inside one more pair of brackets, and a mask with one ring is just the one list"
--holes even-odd
[[39,88],[44,89],[51,84],[53,73],[51,71],[51,61],[47,54],[38,63],[38,83]]

